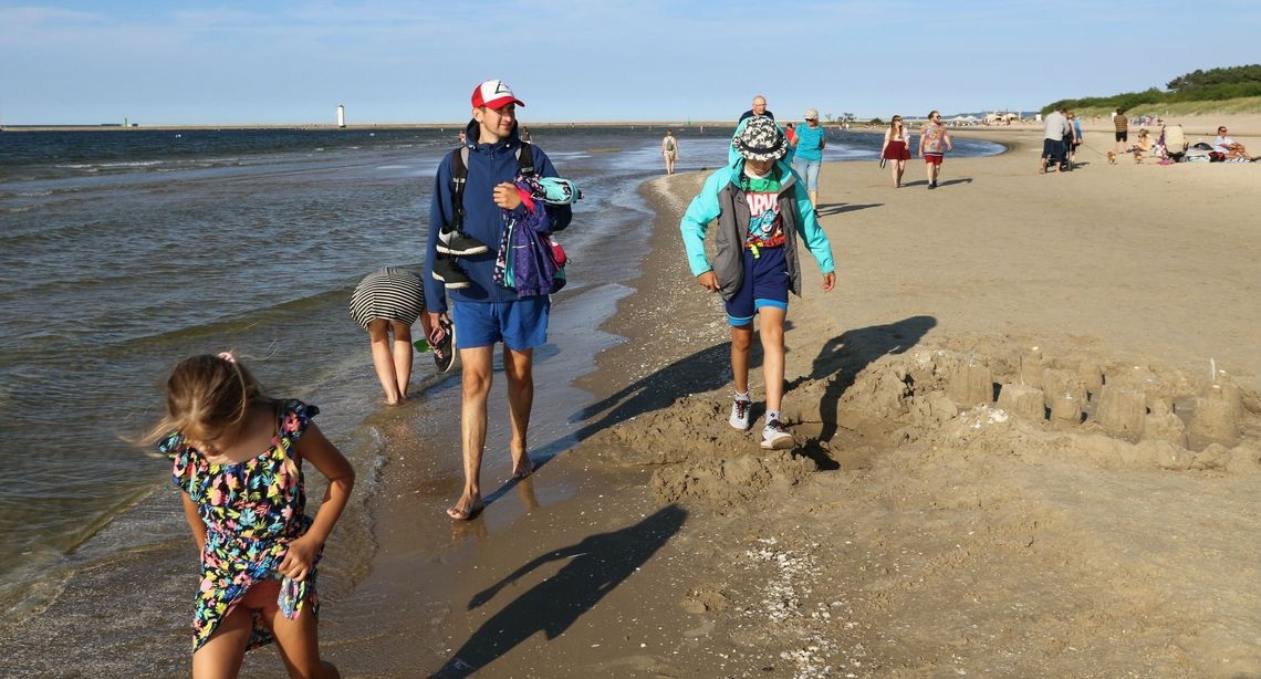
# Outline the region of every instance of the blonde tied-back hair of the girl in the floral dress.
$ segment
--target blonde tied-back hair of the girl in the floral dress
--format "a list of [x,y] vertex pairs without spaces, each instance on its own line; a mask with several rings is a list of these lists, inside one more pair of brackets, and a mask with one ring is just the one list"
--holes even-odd
[[141,443],[153,443],[175,431],[200,437],[228,430],[245,419],[250,406],[257,402],[271,399],[232,354],[187,358],[166,378],[166,416]]

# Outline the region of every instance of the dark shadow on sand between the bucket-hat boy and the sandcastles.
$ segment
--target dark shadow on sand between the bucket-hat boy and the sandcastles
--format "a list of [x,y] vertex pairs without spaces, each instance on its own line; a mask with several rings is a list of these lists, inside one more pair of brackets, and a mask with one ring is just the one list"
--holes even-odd
[[855,330],[846,330],[835,336],[820,349],[815,358],[813,369],[808,375],[797,378],[788,384],[787,392],[792,392],[807,379],[825,379],[836,375],[823,397],[820,401],[818,411],[823,413],[823,428],[820,431],[820,441],[830,441],[836,436],[836,407],[841,402],[841,396],[854,385],[859,373],[880,357],[889,354],[903,354],[919,343],[937,325],[933,316],[910,316],[888,325],[871,325]]

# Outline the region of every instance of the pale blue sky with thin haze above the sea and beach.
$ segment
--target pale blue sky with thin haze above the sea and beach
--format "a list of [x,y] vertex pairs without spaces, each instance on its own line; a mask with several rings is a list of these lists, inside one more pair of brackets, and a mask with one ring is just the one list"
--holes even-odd
[[1261,62],[1261,1],[0,0],[0,123],[860,118],[1035,110]]

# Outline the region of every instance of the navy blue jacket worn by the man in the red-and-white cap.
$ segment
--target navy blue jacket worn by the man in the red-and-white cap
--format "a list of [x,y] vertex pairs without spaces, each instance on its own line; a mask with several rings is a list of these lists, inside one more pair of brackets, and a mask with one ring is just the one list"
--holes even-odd
[[[441,281],[434,278],[434,260],[438,256],[438,233],[445,224],[455,220],[451,203],[451,157],[438,165],[434,179],[434,200],[429,208],[429,241],[425,244],[425,309],[441,314],[448,310],[446,295],[458,302],[502,302],[517,300],[516,291],[494,285],[494,258],[503,239],[503,210],[492,200],[494,186],[502,181],[512,181],[517,176],[517,126],[512,134],[498,144],[478,144],[480,127],[477,121],[469,121],[465,128],[468,139],[469,163],[468,181],[464,184],[464,233],[485,243],[489,252],[460,257],[456,266],[473,281],[473,285],[448,291]],[[530,145],[535,157],[535,174],[538,176],[559,176],[547,154],[533,144]],[[526,208],[518,207],[518,217],[525,217]],[[551,231],[569,225],[574,213],[569,205],[547,205],[547,218]]]

